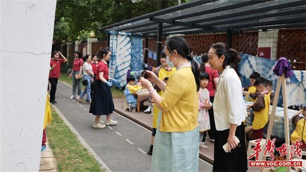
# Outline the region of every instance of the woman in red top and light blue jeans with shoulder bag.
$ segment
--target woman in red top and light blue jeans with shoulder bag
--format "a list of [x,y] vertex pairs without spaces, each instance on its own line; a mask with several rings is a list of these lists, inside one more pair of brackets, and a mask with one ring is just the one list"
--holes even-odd
[[83,59],[82,54],[80,51],[74,52],[74,61],[73,61],[73,67],[71,70],[71,73],[69,75],[69,78],[72,77],[72,95],[70,96],[70,99],[77,99],[77,87],[78,87],[78,95],[80,96],[82,92],[81,87],[81,80],[82,80],[82,69],[83,69]]

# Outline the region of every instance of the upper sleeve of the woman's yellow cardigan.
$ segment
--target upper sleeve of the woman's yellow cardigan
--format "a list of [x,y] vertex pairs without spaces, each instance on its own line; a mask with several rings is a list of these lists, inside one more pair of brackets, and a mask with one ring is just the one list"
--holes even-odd
[[167,82],[161,101],[161,107],[166,111],[170,111],[177,101],[179,101],[184,95],[186,85],[187,80],[184,75],[179,72],[173,73]]

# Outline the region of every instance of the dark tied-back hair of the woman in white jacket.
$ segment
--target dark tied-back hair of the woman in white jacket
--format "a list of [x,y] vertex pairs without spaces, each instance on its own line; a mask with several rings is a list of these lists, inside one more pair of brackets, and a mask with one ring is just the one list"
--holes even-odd
[[241,60],[241,57],[238,55],[236,50],[229,48],[223,42],[214,43],[210,48],[215,49],[215,53],[219,58],[224,55],[225,59],[223,62],[223,69],[230,65],[236,70],[236,72],[238,72],[238,64]]

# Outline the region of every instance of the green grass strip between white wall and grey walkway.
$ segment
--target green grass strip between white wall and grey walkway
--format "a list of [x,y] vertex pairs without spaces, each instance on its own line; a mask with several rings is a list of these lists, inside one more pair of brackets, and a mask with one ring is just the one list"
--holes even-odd
[[54,109],[52,109],[52,122],[47,126],[47,138],[57,159],[58,171],[105,171]]

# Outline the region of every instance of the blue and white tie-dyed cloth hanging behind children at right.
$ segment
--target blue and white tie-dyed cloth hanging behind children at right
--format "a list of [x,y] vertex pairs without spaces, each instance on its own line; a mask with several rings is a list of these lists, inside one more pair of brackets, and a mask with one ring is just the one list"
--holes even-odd
[[[274,91],[277,84],[277,76],[273,72],[276,60],[270,60],[260,57],[254,57],[247,54],[240,54],[242,57],[239,63],[239,73],[241,74],[242,86],[250,85],[249,76],[253,71],[257,71],[260,75],[273,83]],[[306,103],[306,71],[293,70],[294,75],[286,79],[287,102],[288,106],[303,106]],[[277,106],[282,106],[282,91],[279,94]]]

